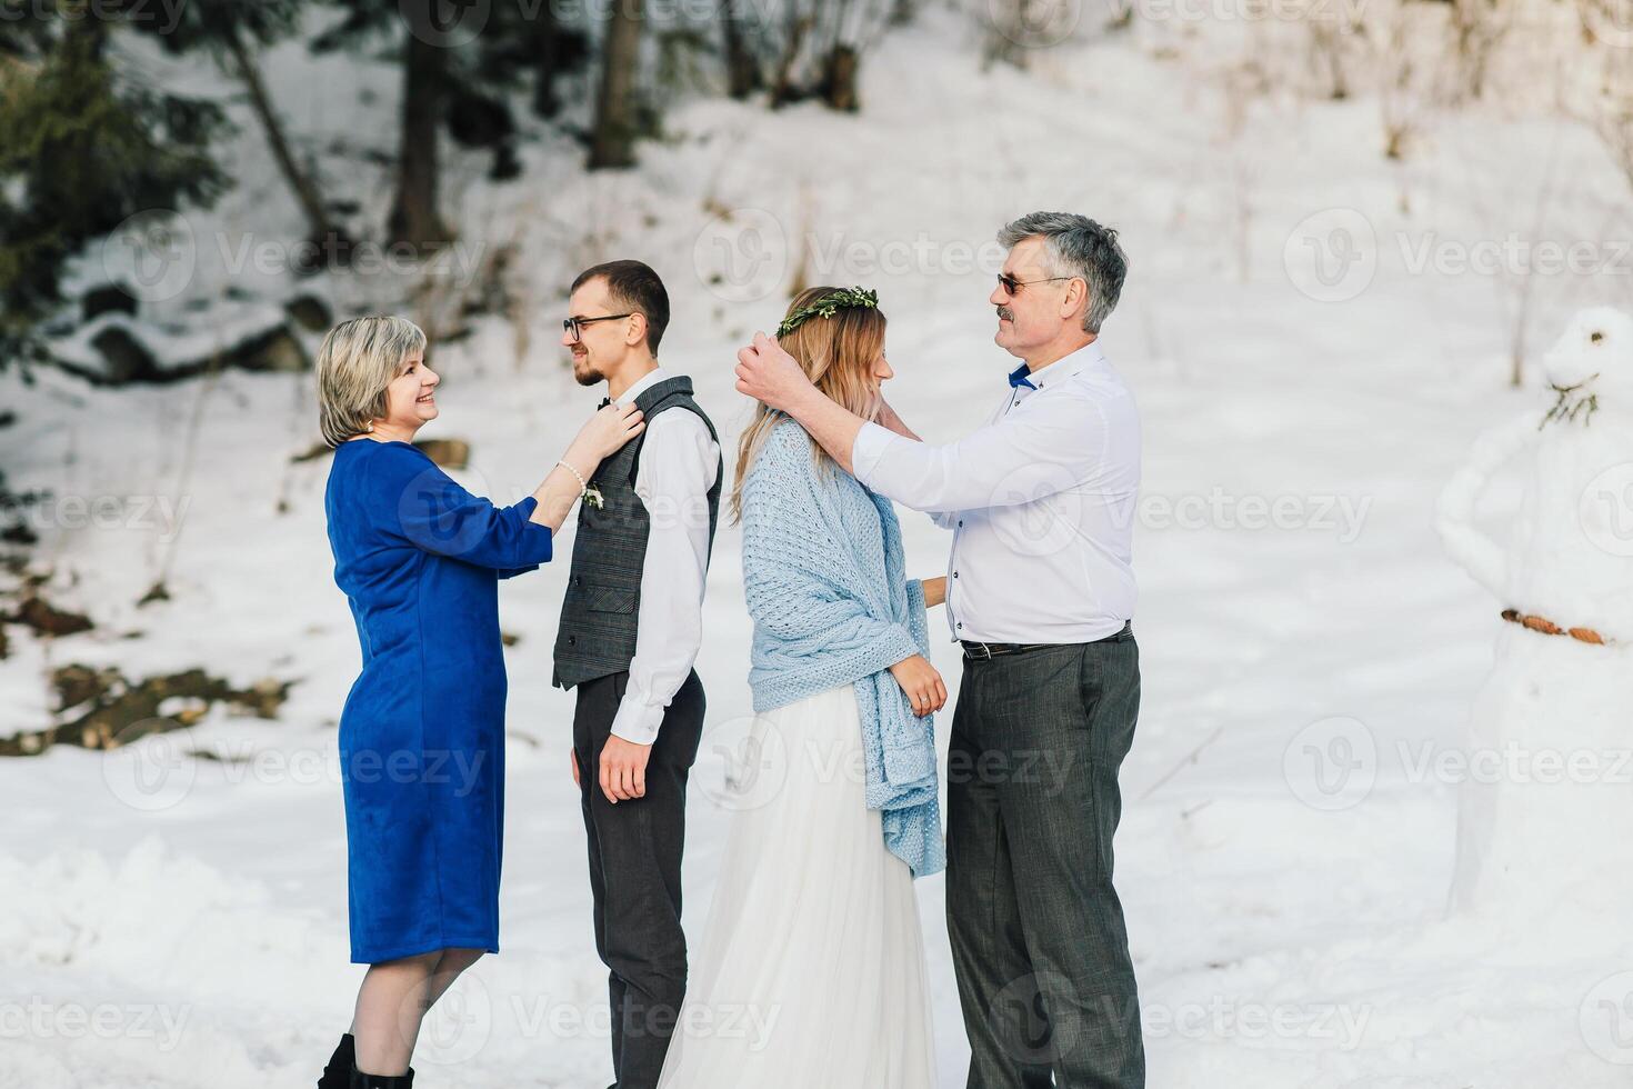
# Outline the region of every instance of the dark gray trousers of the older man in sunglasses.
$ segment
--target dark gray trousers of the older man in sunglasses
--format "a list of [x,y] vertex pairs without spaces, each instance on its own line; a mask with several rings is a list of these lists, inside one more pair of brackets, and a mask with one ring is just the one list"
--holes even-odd
[[965,645],[947,761],[947,924],[968,1089],[1145,1084],[1112,890],[1117,769],[1138,710],[1132,627],[991,656]]

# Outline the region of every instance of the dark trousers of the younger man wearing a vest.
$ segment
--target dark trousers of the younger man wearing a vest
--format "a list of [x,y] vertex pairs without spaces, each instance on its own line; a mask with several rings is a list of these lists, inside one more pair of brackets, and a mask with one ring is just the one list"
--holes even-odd
[[686,996],[681,849],[704,686],[692,673],[670,702],[647,758],[647,795],[612,805],[601,792],[601,748],[627,687],[629,671],[578,686],[573,758],[590,839],[596,952],[607,967],[612,1006],[612,1076],[617,1089],[653,1089]]

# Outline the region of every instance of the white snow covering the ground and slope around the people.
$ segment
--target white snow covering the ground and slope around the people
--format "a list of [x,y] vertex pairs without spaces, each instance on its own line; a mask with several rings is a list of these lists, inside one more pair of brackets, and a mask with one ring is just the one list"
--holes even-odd
[[[1244,103],[1184,36],[1066,44],[1030,72],[981,73],[960,28],[932,16],[885,38],[854,118],[694,101],[617,176],[580,175],[562,137],[529,145],[527,180],[503,188],[456,158],[470,180],[449,206],[465,238],[514,243],[524,320],[483,318],[438,349],[444,410],[426,436],[469,439],[462,477],[496,500],[531,490],[598,397],[560,364],[562,289],[611,256],[665,274],[665,362],[692,374],[727,434],[746,416],[733,348],[774,325],[772,289],[803,260],[808,282],[880,291],[892,402],[928,438],[957,436],[1011,366],[985,302],[996,227],[1040,207],[1117,225],[1132,274],[1104,343],[1146,434],[1145,704],[1117,851],[1151,1084],[1625,1084],[1630,927],[1542,940],[1444,916],[1455,758],[1501,620],[1444,558],[1431,513],[1478,431],[1548,400],[1535,380],[1506,385],[1522,302],[1538,346],[1573,310],[1626,302],[1628,258],[1613,266],[1633,237],[1626,181],[1584,126],[1542,106],[1435,114],[1390,163],[1370,95]],[[358,155],[327,160],[336,178],[366,180],[348,173],[366,170],[359,152],[390,144],[390,85],[359,67],[269,57],[296,129]],[[367,80],[376,96],[353,104]],[[256,181],[189,216],[196,296],[232,279],[214,242],[235,224],[284,222],[274,238],[297,227],[253,129],[238,170]],[[1602,264],[1468,266],[1511,233],[1522,248],[1586,240]],[[309,379],[108,392],[10,376],[0,397],[18,413],[0,429],[10,483],[56,496],[36,563],[54,570],[57,604],[98,622],[54,643],[10,629],[0,736],[49,722],[44,678],[69,661],[296,681],[276,722],[216,713],[108,756],[57,746],[0,762],[0,1086],[309,1084],[359,975],[335,759],[358,648],[330,576],[327,460],[291,460],[315,439]],[[113,516],[90,521],[75,496],[113,496]],[[1499,496],[1494,524],[1514,498]],[[939,573],[946,536],[905,522],[910,567]],[[738,549],[722,532],[699,661],[710,733],[689,813],[694,934],[732,816],[720,751],[750,713]],[[162,573],[171,599],[137,607]],[[563,575],[550,565],[503,593],[518,637],[505,950],[421,1038],[428,1089],[609,1079],[570,705],[549,686]],[[954,687],[950,642],[934,661]],[[1453,759],[1424,772],[1426,751]],[[1564,864],[1594,865],[1591,831],[1561,844]],[[919,895],[950,1087],[967,1051],[942,882]]]

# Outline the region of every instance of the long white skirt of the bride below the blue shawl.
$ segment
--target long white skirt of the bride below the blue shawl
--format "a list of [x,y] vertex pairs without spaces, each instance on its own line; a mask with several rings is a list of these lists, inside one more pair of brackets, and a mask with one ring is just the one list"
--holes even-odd
[[861,731],[849,684],[756,717],[660,1089],[932,1084],[913,877],[865,807]]

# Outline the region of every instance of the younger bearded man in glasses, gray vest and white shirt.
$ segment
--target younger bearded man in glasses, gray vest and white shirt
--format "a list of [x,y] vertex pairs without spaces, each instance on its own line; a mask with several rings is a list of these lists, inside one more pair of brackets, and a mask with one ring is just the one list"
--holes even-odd
[[[653,1089],[686,994],[681,849],[704,723],[692,669],[720,508],[720,442],[692,382],[658,366],[670,297],[640,261],[573,281],[562,346],[647,429],[578,508],[555,684],[578,689],[573,782],[590,839],[596,952],[609,970],[616,1089]],[[606,402],[603,402],[606,403]]]

